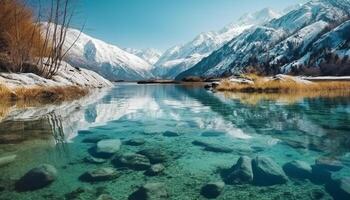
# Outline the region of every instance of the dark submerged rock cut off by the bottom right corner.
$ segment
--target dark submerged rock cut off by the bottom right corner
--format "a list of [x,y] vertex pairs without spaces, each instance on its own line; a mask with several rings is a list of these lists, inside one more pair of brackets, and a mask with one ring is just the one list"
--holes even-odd
[[326,189],[336,200],[350,199],[350,177],[333,180]]

